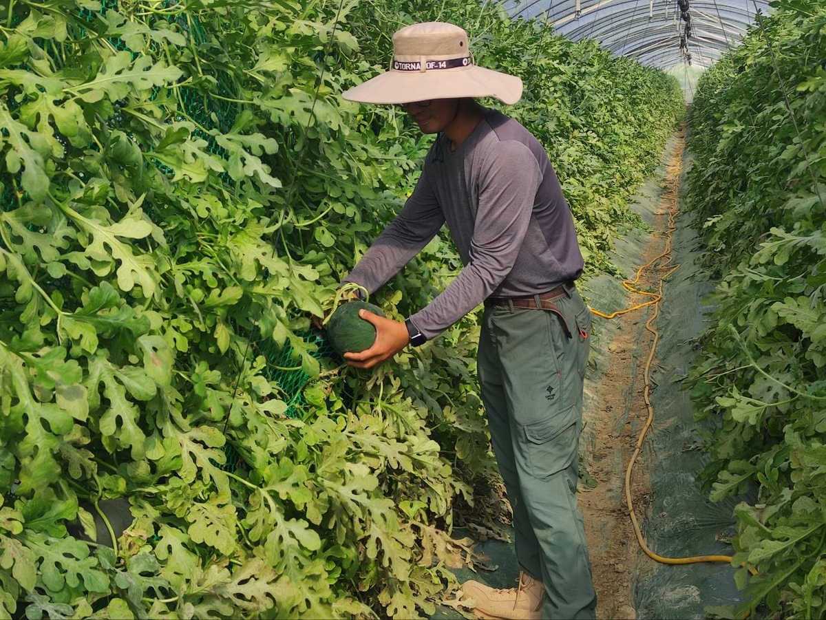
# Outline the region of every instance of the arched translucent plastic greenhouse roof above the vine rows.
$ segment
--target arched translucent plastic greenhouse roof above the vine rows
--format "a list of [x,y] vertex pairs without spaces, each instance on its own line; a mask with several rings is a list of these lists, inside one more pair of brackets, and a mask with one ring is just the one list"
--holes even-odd
[[705,69],[735,47],[768,0],[504,0],[511,17],[536,18],[568,39],[594,39],[658,69]]

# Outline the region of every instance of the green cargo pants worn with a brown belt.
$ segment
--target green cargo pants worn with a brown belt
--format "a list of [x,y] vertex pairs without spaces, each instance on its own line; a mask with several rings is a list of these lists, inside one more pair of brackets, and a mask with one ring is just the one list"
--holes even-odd
[[591,313],[575,286],[553,302],[561,315],[486,307],[478,375],[514,511],[516,559],[545,585],[542,618],[594,618],[576,496]]

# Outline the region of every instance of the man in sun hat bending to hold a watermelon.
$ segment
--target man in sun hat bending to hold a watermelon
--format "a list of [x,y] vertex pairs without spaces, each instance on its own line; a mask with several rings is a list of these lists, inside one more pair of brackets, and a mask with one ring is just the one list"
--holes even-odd
[[574,281],[582,254],[539,141],[473,97],[513,104],[520,78],[472,63],[468,35],[429,22],[393,36],[392,69],[345,92],[401,105],[438,134],[396,219],[344,282],[373,292],[447,224],[464,267],[405,322],[362,310],[376,342],[346,353],[370,368],[441,334],[484,302],[478,375],[514,511],[519,587],[463,585],[481,618],[594,618],[596,594],[577,508],[577,449],[591,315]]

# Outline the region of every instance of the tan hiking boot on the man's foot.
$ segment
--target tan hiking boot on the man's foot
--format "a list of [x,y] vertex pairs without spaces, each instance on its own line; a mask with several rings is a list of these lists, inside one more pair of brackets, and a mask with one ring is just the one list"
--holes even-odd
[[494,589],[478,581],[466,581],[462,591],[476,601],[473,613],[485,620],[542,620],[545,586],[524,570],[520,571],[519,587]]

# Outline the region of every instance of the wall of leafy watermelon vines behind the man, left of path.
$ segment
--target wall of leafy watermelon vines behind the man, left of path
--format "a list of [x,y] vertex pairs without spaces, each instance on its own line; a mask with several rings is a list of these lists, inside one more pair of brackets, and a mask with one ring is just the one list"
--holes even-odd
[[[456,585],[453,504],[493,471],[475,317],[371,374],[311,328],[427,144],[339,92],[444,6],[485,64],[525,73],[516,112],[592,272],[681,97],[431,4],[0,9],[0,618],[416,618]],[[404,315],[458,267],[437,238],[373,301]]]

